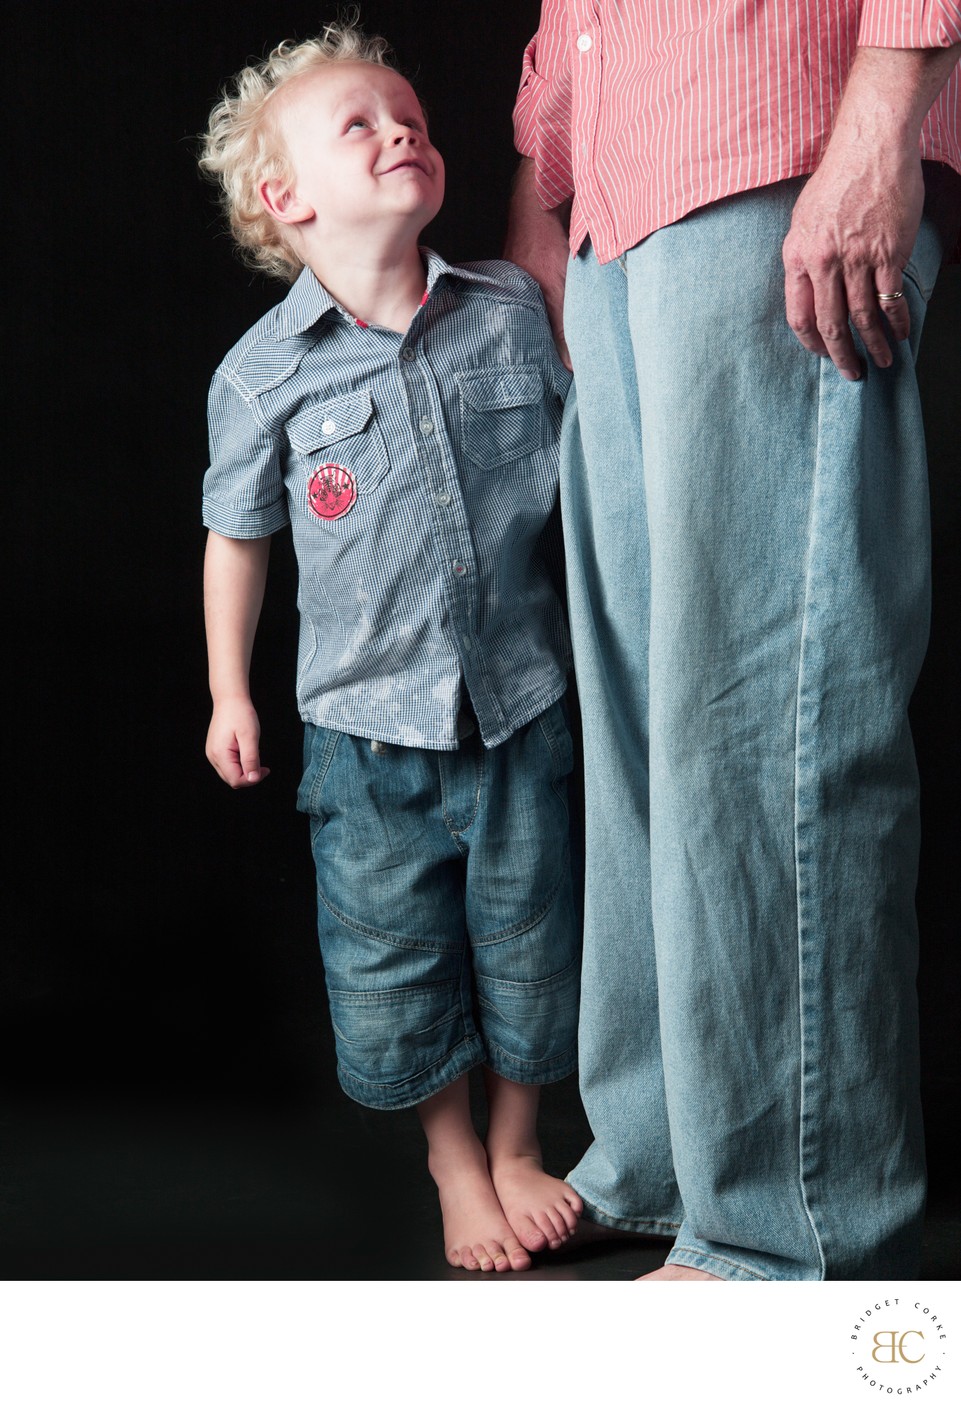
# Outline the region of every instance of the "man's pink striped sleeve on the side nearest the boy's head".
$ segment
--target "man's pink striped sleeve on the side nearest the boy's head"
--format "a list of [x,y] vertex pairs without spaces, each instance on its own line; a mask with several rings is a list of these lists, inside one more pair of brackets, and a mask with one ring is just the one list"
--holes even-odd
[[534,185],[545,210],[574,196],[565,0],[544,0],[540,28],[524,49],[514,104],[514,147],[521,156],[534,161]]

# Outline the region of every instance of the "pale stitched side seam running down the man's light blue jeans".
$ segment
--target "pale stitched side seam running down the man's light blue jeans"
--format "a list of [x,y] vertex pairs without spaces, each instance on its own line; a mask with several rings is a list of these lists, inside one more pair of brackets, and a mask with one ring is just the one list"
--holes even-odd
[[[827,366],[833,369],[834,364],[830,359],[824,359]],[[817,382],[817,434],[814,444],[814,476],[810,492],[810,513],[807,520],[807,552],[805,557],[805,602],[800,620],[800,641],[798,647],[798,681],[795,688],[795,779],[793,779],[793,845],[795,845],[795,902],[796,902],[796,924],[798,924],[798,1030],[800,1038],[800,1054],[799,1054],[799,1092],[798,1092],[798,1181],[800,1186],[800,1202],[807,1217],[807,1223],[814,1239],[814,1247],[817,1248],[817,1257],[820,1261],[822,1281],[826,1275],[826,1260],[824,1248],[822,1246],[820,1236],[814,1223],[814,1215],[807,1199],[807,1182],[805,1177],[805,1126],[809,1117],[807,1099],[806,1099],[806,1078],[807,1078],[807,1055],[809,1055],[809,1033],[806,1029],[805,1019],[805,881],[803,881],[803,855],[802,855],[802,819],[800,819],[800,774],[802,774],[802,713],[803,713],[803,682],[805,682],[805,665],[806,665],[806,645],[809,640],[807,626],[809,626],[809,609],[812,603],[812,557],[814,550],[814,533],[816,533],[816,519],[817,519],[817,493],[822,479],[822,441],[823,441],[823,417],[824,417],[824,364],[819,368],[819,382]]]

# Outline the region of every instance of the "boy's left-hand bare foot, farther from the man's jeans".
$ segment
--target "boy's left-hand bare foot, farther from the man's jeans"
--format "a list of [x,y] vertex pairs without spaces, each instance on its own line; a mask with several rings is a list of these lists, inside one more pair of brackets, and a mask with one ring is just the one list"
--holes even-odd
[[531,1260],[495,1193],[488,1155],[475,1137],[457,1157],[428,1160],[444,1215],[444,1251],[451,1267],[471,1272],[523,1272]]

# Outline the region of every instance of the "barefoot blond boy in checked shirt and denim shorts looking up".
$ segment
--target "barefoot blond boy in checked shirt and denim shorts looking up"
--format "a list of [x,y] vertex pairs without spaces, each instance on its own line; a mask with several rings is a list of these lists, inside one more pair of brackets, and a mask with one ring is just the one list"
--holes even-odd
[[210,392],[207,757],[231,788],[269,771],[248,668],[290,523],[338,1078],[417,1106],[448,1261],[519,1271],[582,1209],[535,1134],[578,1003],[569,647],[541,542],[568,373],[527,275],[418,247],[444,163],[385,49],[341,25],[282,44],[211,114],[202,166],[238,242],[296,282]]

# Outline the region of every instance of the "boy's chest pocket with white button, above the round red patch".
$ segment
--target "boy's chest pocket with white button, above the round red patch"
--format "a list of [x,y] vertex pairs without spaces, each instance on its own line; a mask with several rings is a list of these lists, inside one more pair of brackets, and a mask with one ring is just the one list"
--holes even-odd
[[356,485],[358,502],[372,493],[390,469],[369,392],[348,392],[304,407],[287,421],[287,440],[304,468],[304,511],[307,486],[321,465],[348,469]]

